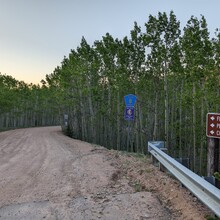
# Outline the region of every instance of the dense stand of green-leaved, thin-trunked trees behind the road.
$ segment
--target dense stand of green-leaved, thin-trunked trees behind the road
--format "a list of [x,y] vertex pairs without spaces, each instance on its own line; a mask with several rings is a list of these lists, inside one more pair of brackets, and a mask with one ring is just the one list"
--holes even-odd
[[[211,38],[204,16],[181,31],[173,11],[142,29],[134,22],[130,36],[106,33],[93,45],[82,37],[41,85],[0,74],[0,129],[61,124],[73,138],[140,153],[165,141],[205,175],[206,114],[220,112],[220,32]],[[127,94],[137,96],[134,121],[124,120]]]

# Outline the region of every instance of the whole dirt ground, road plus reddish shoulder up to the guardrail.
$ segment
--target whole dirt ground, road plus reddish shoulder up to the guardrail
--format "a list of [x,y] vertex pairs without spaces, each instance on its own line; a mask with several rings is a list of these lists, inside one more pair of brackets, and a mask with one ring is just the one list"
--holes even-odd
[[145,156],[74,140],[60,127],[0,133],[0,220],[202,220],[210,215]]

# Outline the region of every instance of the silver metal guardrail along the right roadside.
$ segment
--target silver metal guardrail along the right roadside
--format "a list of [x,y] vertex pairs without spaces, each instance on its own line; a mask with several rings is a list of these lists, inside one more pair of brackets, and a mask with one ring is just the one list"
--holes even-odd
[[148,142],[148,151],[201,202],[220,217],[220,190],[164,153],[161,142]]

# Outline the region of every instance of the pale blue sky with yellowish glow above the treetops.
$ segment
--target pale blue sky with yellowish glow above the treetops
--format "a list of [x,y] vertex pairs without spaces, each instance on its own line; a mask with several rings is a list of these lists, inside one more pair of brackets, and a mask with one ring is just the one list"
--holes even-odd
[[82,36],[122,39],[135,21],[144,28],[150,14],[171,10],[182,27],[202,14],[212,36],[220,28],[220,0],[0,0],[0,72],[39,83]]

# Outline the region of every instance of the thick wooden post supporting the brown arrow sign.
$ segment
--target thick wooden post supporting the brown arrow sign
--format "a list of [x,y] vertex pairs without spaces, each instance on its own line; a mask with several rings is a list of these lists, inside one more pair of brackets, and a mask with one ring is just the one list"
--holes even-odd
[[218,172],[219,166],[219,139],[207,138],[208,144],[208,160],[207,160],[207,176],[212,176]]

